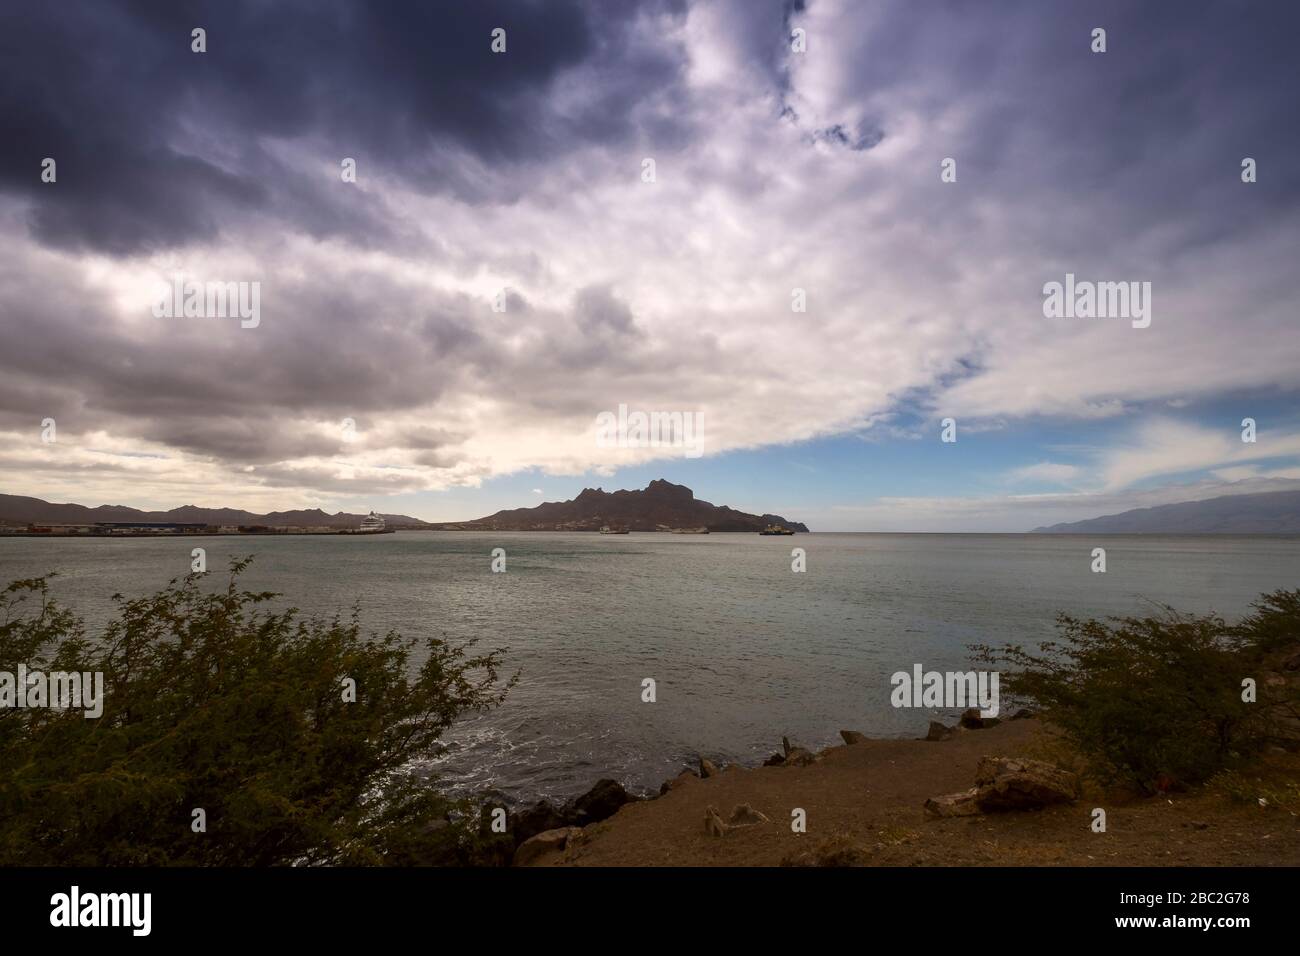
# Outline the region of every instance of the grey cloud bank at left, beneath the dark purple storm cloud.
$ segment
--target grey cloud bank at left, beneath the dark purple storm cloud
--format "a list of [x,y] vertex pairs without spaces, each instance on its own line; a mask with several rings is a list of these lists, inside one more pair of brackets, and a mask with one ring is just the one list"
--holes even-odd
[[0,407],[26,428],[47,415],[69,432],[113,425],[230,462],[334,454],[299,419],[415,408],[493,375],[507,356],[472,328],[464,297],[430,297],[374,277],[342,287],[281,280],[264,287],[276,319],[108,320],[98,290],[51,290],[25,263],[0,265]]

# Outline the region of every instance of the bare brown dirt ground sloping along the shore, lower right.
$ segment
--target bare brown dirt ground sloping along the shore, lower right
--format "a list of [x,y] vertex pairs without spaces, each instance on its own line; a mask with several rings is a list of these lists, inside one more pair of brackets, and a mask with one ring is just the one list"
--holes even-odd
[[[833,747],[806,767],[728,769],[629,804],[536,865],[775,866],[798,856],[868,866],[1300,865],[1300,817],[1209,788],[1167,797],[1086,792],[1069,806],[952,819],[923,812],[927,797],[974,786],[980,757],[1041,756],[1048,744],[1037,721],[1022,719],[937,743]],[[1296,754],[1269,761],[1273,779],[1300,779]],[[725,819],[737,804],[771,822],[706,835],[706,808]],[[1104,834],[1091,829],[1095,806],[1106,810]],[[805,834],[792,831],[794,808],[806,812]]]

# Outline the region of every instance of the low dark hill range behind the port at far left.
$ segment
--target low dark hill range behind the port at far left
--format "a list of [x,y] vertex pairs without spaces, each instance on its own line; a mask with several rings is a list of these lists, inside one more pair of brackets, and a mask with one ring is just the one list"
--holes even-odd
[[[364,515],[346,511],[326,514],[320,509],[307,511],[272,511],[257,515],[228,507],[196,507],[185,505],[170,511],[140,511],[125,505],[55,505],[40,498],[18,494],[0,494],[0,524],[95,524],[98,522],[177,522],[181,524],[264,524],[270,528],[317,527],[355,528]],[[425,528],[428,524],[408,515],[384,515],[390,528]]]

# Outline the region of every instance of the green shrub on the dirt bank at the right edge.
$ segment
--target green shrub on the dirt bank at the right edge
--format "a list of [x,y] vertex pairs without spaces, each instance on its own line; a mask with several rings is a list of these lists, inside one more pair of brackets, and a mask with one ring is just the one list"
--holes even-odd
[[[1057,618],[1037,652],[976,645],[1004,692],[1035,704],[1104,783],[1147,792],[1199,783],[1270,741],[1295,739],[1295,680],[1273,675],[1300,649],[1300,591],[1262,594],[1235,626],[1164,607],[1145,618]],[[1254,702],[1242,682],[1256,682]]]

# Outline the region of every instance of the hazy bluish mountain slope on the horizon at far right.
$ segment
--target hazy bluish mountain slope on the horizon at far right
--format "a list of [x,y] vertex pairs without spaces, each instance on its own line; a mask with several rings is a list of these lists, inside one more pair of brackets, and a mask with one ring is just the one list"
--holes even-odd
[[1295,535],[1300,492],[1228,494],[1035,528],[1049,535]]

